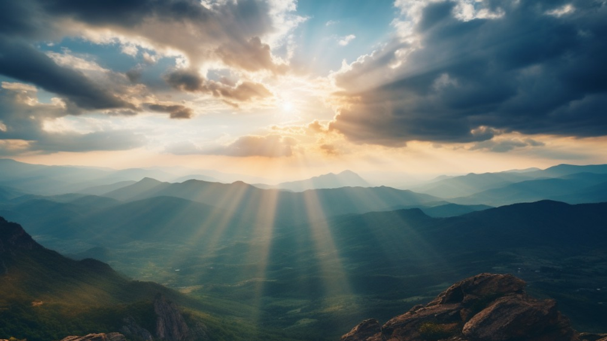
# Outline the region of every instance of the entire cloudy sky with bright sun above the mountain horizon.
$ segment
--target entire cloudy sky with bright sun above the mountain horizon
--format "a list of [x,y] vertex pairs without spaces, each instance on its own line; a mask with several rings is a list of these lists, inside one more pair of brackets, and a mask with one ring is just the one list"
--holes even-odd
[[607,163],[605,18],[604,0],[2,1],[0,157],[280,181]]

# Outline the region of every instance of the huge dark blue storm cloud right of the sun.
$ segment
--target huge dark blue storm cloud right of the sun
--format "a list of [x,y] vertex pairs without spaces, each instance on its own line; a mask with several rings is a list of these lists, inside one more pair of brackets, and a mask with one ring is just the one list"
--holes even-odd
[[[419,47],[388,44],[336,73],[347,105],[331,129],[387,146],[484,141],[492,129],[607,135],[607,5],[482,4],[501,17],[463,21],[455,2],[429,4],[414,28]],[[566,4],[574,10],[558,12]]]

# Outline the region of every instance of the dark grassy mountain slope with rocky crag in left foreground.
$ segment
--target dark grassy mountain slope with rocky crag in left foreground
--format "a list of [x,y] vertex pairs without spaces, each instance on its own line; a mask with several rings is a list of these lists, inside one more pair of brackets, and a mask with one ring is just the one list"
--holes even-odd
[[63,257],[2,217],[0,283],[2,337],[47,341],[120,331],[131,340],[298,340],[253,325],[247,319],[254,310],[239,302],[199,302],[128,280],[97,260]]

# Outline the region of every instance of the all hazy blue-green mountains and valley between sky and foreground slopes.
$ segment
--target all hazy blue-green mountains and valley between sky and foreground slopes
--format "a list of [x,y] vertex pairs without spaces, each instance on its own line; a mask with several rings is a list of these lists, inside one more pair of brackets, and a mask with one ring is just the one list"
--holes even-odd
[[[154,334],[146,314],[161,292],[210,339],[330,340],[479,272],[516,274],[530,293],[558,299],[577,329],[599,332],[607,318],[605,165],[442,177],[419,192],[351,172],[269,188],[16,161],[0,169],[0,216],[36,240],[0,244],[0,276],[15,278],[0,295],[7,336],[115,332],[126,311]],[[360,186],[316,188],[345,178]],[[56,326],[50,316],[70,309],[77,322]]]

